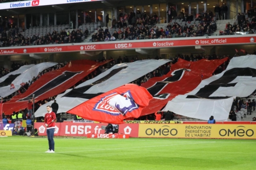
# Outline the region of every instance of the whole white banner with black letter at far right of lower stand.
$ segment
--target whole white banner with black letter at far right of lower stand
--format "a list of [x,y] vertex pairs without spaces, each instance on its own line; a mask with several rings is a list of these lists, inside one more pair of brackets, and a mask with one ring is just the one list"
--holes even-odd
[[236,96],[246,97],[256,89],[256,55],[234,57],[221,74],[203,80],[196,89],[178,95],[163,109],[183,116],[227,120]]

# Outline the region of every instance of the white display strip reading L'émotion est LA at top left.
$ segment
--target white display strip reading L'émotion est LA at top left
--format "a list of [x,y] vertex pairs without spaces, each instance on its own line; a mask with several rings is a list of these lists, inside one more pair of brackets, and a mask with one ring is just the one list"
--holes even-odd
[[1,3],[0,10],[2,9],[14,9],[14,8],[27,8],[27,7],[38,7],[46,5],[59,5],[59,4],[73,4],[73,3],[85,3],[85,2],[95,2],[103,0],[33,0],[33,1],[18,1],[11,3]]

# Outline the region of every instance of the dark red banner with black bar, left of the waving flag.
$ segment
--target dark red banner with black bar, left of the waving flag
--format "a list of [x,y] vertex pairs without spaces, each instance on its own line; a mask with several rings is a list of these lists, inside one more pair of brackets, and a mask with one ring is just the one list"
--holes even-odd
[[35,94],[35,102],[58,95],[109,61],[98,63],[91,60],[76,60],[68,63],[65,67],[48,72],[36,80],[25,93],[16,95],[9,102],[4,103],[3,112],[8,115],[13,111],[19,111],[19,109],[26,109],[33,94]]

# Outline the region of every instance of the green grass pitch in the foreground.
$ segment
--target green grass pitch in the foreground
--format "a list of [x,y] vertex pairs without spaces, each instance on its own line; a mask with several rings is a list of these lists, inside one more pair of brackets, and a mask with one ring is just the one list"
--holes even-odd
[[254,169],[256,140],[0,138],[0,169]]

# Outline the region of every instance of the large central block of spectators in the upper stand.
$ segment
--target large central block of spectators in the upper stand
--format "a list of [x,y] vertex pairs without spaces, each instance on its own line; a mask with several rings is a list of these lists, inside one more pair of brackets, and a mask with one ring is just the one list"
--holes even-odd
[[214,14],[211,11],[202,11],[195,19],[192,14],[187,15],[183,10],[178,16],[172,13],[169,17],[172,19],[164,28],[155,26],[158,23],[156,14],[148,16],[140,11],[137,11],[137,14],[132,11],[129,14],[125,13],[124,16],[123,13],[120,13],[119,18],[118,21],[115,18],[112,19],[112,28],[110,29],[107,27],[103,30],[99,27],[90,41],[196,37],[205,34],[211,35],[217,29]]

